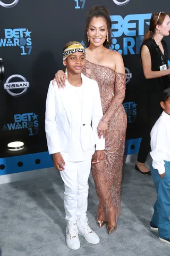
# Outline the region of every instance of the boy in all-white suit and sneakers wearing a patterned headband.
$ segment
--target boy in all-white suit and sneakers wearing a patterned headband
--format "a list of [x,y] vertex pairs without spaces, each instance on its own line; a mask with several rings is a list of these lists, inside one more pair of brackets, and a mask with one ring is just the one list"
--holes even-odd
[[79,42],[64,46],[63,64],[67,68],[66,86],[49,84],[46,101],[46,137],[49,154],[64,181],[64,208],[67,220],[66,244],[80,247],[78,233],[89,243],[98,244],[98,235],[88,226],[86,216],[91,157],[103,161],[105,140],[98,138],[97,126],[103,111],[96,81],[81,74],[85,50]]

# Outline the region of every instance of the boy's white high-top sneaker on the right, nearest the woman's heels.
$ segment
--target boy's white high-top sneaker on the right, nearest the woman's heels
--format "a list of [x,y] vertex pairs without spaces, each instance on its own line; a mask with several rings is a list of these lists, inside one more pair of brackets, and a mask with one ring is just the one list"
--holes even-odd
[[100,238],[98,235],[91,230],[91,228],[88,225],[88,219],[78,219],[78,231],[79,234],[82,235],[86,241],[90,244],[98,244],[100,242]]

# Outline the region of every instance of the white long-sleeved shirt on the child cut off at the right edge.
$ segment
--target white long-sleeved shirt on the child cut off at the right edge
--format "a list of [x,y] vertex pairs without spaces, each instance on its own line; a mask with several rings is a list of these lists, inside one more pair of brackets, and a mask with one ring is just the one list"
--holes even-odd
[[163,111],[151,130],[152,166],[159,174],[165,172],[164,160],[170,162],[170,116]]

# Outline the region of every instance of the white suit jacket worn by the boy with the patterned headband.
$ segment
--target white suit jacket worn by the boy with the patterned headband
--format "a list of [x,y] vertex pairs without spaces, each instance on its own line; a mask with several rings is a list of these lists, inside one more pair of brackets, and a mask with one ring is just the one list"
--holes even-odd
[[[66,74],[67,75],[67,74]],[[97,126],[103,116],[99,88],[96,81],[81,74],[83,83],[81,146],[84,152],[96,144],[96,150],[105,149],[105,140],[99,139]],[[71,147],[70,87],[58,89],[57,83],[49,84],[46,100],[45,131],[49,154],[69,152]],[[76,115],[76,113],[75,113]],[[92,122],[92,127],[91,127]]]

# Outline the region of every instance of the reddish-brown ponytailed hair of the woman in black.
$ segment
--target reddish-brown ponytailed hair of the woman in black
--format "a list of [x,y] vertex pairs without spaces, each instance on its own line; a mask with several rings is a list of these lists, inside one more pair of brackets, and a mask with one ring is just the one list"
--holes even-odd
[[[159,14],[160,13],[160,14]],[[162,25],[164,22],[165,16],[168,15],[167,13],[164,12],[157,12],[152,14],[152,17],[150,19],[150,26],[149,30],[146,32],[144,38],[143,38],[143,43],[150,37],[152,37],[155,34],[156,31],[156,26],[157,25]]]

